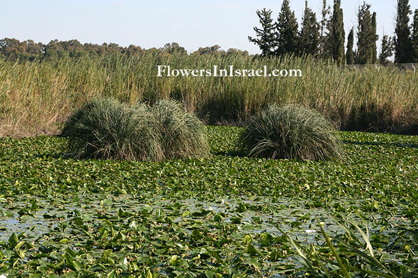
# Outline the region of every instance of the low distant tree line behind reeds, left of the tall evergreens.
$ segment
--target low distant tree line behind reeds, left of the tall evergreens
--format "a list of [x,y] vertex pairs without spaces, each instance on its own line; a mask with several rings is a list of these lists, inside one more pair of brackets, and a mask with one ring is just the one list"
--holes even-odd
[[[155,52],[160,55],[170,54],[184,54],[187,51],[181,47],[177,42],[171,42],[161,48],[143,49],[141,47],[131,44],[129,47],[121,47],[116,43],[103,44],[82,44],[78,40],[59,41],[52,40],[48,44],[41,42],[33,42],[33,40],[25,40],[20,42],[16,39],[4,38],[0,40],[0,58],[8,60],[58,60],[63,57],[70,58],[86,58],[110,56],[114,54],[122,54],[126,56],[141,55],[146,52]],[[229,49],[224,51],[219,45],[212,47],[201,47],[194,51],[191,55],[213,54],[220,56],[240,55],[249,56],[248,51],[241,51],[239,49]]]

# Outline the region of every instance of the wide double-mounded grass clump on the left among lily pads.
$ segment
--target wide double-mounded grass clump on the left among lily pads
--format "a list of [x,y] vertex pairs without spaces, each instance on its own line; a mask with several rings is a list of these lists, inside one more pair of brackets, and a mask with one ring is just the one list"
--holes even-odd
[[75,158],[162,161],[210,154],[202,122],[170,100],[150,107],[93,99],[68,119],[62,135]]

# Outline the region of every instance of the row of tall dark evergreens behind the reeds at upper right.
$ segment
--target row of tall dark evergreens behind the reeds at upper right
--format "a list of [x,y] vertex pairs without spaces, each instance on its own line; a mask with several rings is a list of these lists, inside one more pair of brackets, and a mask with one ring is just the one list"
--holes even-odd
[[[365,1],[357,10],[357,26],[350,29],[347,37],[343,24],[341,0],[334,0],[331,8],[323,0],[320,19],[317,19],[305,1],[302,24],[299,28],[295,12],[289,0],[284,0],[277,21],[272,18],[272,10],[257,10],[261,28],[254,27],[256,37],[249,36],[250,42],[258,45],[261,56],[311,55],[331,58],[340,65],[389,63],[395,55],[395,63],[418,62],[418,9],[410,24],[412,10],[409,0],[397,0],[396,26],[393,37],[383,35],[380,54],[376,42],[376,12]],[[355,35],[357,48],[355,49]]]

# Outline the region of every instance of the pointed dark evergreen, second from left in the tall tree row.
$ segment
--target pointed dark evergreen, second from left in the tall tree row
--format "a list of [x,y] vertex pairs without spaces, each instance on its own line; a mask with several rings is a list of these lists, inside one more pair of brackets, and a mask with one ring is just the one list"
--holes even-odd
[[284,0],[277,19],[277,55],[296,54],[298,41],[295,12],[291,11],[289,0]]

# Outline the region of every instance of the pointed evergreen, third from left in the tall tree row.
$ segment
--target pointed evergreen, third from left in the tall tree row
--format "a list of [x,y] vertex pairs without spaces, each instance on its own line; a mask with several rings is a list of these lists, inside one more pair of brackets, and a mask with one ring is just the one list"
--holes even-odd
[[305,1],[305,9],[302,17],[302,30],[300,31],[300,53],[318,54],[319,24],[316,21],[315,13],[308,7]]

